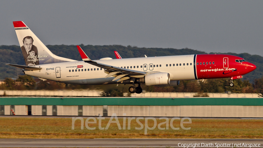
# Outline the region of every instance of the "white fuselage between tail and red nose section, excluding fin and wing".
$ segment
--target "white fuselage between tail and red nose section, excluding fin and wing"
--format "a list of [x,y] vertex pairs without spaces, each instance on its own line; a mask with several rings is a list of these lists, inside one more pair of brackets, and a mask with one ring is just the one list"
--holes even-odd
[[[131,70],[144,72],[161,71],[169,73],[171,81],[195,79],[193,64],[194,55],[122,58],[95,61],[97,63]],[[181,66],[179,64],[181,64]],[[117,80],[114,82],[112,81],[114,77],[105,78],[107,74],[104,73],[104,69],[85,63],[84,61],[41,64],[36,67],[41,67],[42,69],[35,71],[24,70],[25,74],[68,84],[101,85],[117,83]]]

